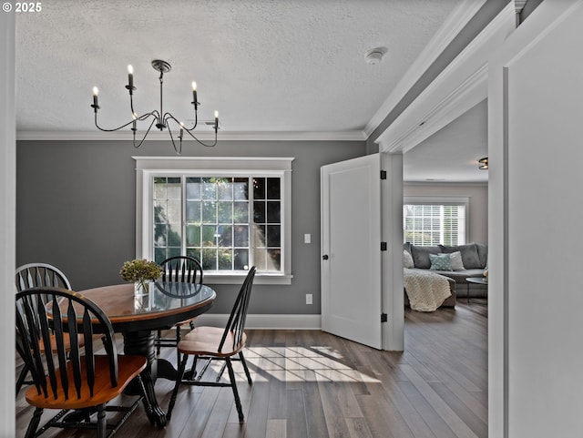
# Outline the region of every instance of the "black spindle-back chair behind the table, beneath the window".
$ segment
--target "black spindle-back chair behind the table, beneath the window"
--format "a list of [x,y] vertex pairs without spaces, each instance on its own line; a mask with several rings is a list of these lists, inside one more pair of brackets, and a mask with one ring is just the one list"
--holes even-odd
[[[162,268],[162,281],[202,284],[203,271],[199,260],[189,256],[174,256],[162,261],[159,265]],[[174,338],[163,338],[162,330],[159,329],[157,336],[154,338],[157,353],[160,353],[161,347],[177,348],[182,335],[181,329],[187,325],[190,330],[194,329],[194,320],[194,318],[190,318],[189,320],[174,324],[173,327],[176,330],[176,336]],[[168,327],[168,329],[171,328]],[[179,357],[177,351],[177,361]]]

